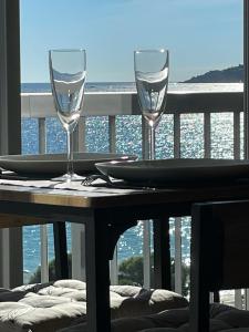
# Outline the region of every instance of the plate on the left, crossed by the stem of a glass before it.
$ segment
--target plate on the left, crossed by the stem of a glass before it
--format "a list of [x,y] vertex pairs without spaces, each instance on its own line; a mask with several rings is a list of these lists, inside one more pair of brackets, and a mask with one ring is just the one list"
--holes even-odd
[[[96,172],[95,163],[136,159],[122,154],[74,153],[74,172],[81,175]],[[66,173],[65,154],[0,156],[0,167],[25,175],[62,175]]]

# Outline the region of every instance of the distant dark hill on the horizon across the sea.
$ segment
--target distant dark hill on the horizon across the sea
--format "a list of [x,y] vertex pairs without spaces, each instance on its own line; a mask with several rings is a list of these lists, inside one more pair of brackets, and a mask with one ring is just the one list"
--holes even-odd
[[239,83],[243,82],[243,65],[231,66],[225,70],[207,72],[203,75],[194,76],[184,83]]

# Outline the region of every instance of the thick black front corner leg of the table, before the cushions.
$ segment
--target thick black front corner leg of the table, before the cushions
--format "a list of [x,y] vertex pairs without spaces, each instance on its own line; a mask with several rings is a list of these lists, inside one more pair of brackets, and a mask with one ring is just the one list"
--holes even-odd
[[103,212],[94,211],[85,222],[87,331],[111,332],[110,232]]

